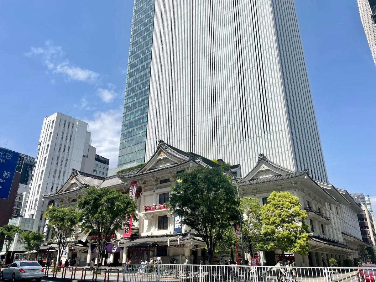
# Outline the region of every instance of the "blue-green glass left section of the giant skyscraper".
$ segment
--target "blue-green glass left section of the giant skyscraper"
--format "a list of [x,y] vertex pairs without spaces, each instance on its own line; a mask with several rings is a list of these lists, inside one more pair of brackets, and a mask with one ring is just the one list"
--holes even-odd
[[135,0],[118,167],[144,162],[155,0]]

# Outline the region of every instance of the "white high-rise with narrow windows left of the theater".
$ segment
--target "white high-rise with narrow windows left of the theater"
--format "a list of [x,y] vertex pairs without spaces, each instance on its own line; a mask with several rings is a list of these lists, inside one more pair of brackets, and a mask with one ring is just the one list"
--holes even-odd
[[[49,234],[43,214],[49,203],[41,196],[56,193],[72,168],[92,173],[96,149],[90,146],[91,133],[87,130],[87,123],[59,112],[43,120],[24,217],[34,219],[32,230],[47,235],[46,240]],[[88,160],[89,152],[93,151],[92,160]]]

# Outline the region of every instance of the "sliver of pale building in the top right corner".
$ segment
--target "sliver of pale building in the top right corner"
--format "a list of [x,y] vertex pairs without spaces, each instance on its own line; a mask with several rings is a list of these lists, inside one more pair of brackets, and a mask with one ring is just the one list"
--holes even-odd
[[360,18],[376,65],[376,0],[358,0]]

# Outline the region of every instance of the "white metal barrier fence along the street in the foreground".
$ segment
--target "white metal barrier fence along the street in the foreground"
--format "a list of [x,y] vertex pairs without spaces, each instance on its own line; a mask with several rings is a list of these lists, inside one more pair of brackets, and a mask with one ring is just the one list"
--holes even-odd
[[376,268],[127,264],[123,282],[376,282]]

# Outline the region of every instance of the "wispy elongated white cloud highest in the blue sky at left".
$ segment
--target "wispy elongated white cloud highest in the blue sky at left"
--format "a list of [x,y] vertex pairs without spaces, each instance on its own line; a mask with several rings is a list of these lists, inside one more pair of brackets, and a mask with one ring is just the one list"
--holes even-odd
[[25,53],[27,57],[42,56],[43,64],[52,73],[61,73],[67,80],[77,80],[93,83],[99,79],[99,73],[85,68],[75,67],[71,65],[68,59],[64,59],[64,52],[61,46],[56,46],[52,40],[44,42],[43,47],[30,47],[30,52]]

